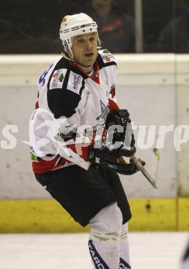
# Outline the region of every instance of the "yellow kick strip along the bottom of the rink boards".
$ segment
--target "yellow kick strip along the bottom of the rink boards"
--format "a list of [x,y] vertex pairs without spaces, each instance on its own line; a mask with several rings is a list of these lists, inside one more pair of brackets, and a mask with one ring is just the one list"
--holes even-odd
[[[129,230],[189,230],[189,198],[129,199]],[[0,232],[86,232],[54,199],[0,199]]]

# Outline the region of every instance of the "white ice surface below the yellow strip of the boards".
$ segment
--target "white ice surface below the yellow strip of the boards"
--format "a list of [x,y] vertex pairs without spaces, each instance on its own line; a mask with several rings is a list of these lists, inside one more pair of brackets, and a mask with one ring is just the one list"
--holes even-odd
[[[132,269],[178,269],[188,232],[130,232]],[[92,269],[88,234],[0,235],[1,269]]]

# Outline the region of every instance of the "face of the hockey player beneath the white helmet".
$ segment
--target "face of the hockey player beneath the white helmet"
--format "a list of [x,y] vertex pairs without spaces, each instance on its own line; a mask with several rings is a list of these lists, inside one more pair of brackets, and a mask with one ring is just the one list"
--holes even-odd
[[81,34],[72,39],[72,52],[77,63],[85,68],[93,66],[97,59],[97,34]]

